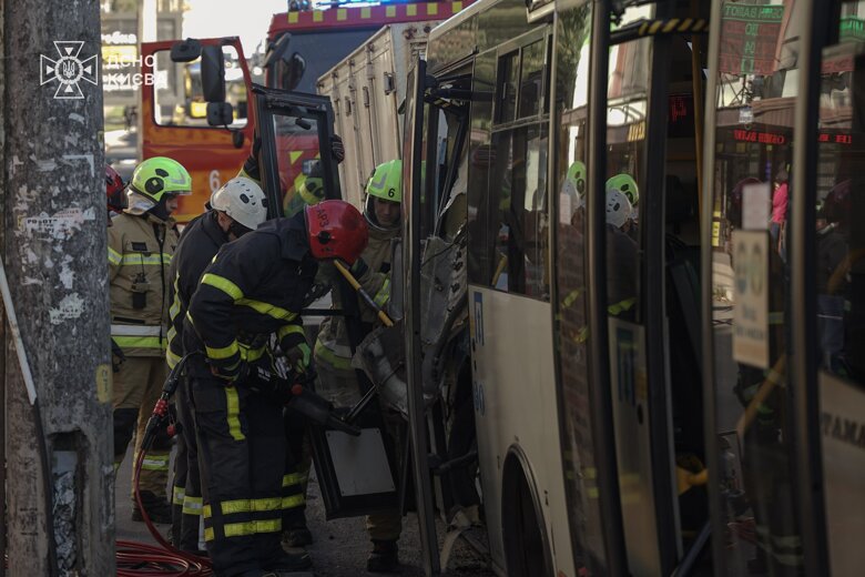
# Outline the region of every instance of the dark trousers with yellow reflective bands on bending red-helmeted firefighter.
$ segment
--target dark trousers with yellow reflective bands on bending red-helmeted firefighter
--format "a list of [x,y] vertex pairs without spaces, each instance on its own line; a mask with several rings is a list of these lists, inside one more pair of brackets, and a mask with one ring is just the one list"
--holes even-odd
[[[194,375],[206,371],[203,362]],[[242,384],[194,376],[204,540],[217,576],[265,570],[283,556],[282,406]]]

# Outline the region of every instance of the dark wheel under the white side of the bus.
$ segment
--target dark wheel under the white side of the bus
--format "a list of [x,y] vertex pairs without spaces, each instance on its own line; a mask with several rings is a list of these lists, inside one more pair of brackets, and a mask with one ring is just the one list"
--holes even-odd
[[501,525],[508,577],[552,577],[552,559],[540,498],[526,475],[522,455],[511,449],[505,462]]

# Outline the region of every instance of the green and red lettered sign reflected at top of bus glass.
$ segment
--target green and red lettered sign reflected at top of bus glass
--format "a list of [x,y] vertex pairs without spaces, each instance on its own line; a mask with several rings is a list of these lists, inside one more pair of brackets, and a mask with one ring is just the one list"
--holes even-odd
[[721,72],[772,74],[783,18],[783,6],[725,2],[721,21]]

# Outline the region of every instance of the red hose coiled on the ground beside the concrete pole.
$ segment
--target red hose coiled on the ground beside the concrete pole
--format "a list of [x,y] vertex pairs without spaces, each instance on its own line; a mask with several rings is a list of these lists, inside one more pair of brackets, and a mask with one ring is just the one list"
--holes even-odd
[[144,518],[147,530],[159,546],[119,540],[116,544],[118,577],[140,577],[143,575],[207,577],[213,575],[211,560],[207,557],[199,557],[197,555],[177,549],[160,535],[160,532],[150,520],[147,509],[142,505],[141,493],[139,492],[141,464],[144,462],[144,455],[146,455],[146,449],[142,447],[138,459],[135,459],[134,468],[135,503],[139,505],[139,510],[141,510],[141,516]]

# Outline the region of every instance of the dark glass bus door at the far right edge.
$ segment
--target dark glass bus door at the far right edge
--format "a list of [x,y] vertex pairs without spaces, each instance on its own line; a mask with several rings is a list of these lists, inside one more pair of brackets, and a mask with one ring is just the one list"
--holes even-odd
[[[815,4],[815,10],[827,8]],[[810,352],[796,372],[796,388],[808,391],[798,401],[797,428],[807,423],[811,434],[803,445],[817,449],[801,452],[805,473],[800,476],[811,472],[810,486],[822,488],[804,495],[801,508],[825,516],[813,525],[816,530],[803,532],[806,567],[841,576],[865,566],[859,538],[865,534],[865,227],[859,224],[865,217],[859,192],[865,190],[865,1],[832,4],[825,33],[814,32],[814,41],[825,39],[825,47],[814,51],[820,83],[810,87],[818,113],[808,118],[818,121],[808,126],[816,153],[804,159],[808,194],[802,203],[792,200],[791,216],[800,214],[804,223],[794,229],[801,239],[794,233],[786,243],[794,266],[802,267],[794,286],[804,288],[796,302],[795,318],[804,321],[796,344]],[[816,463],[808,459],[814,454]]]

